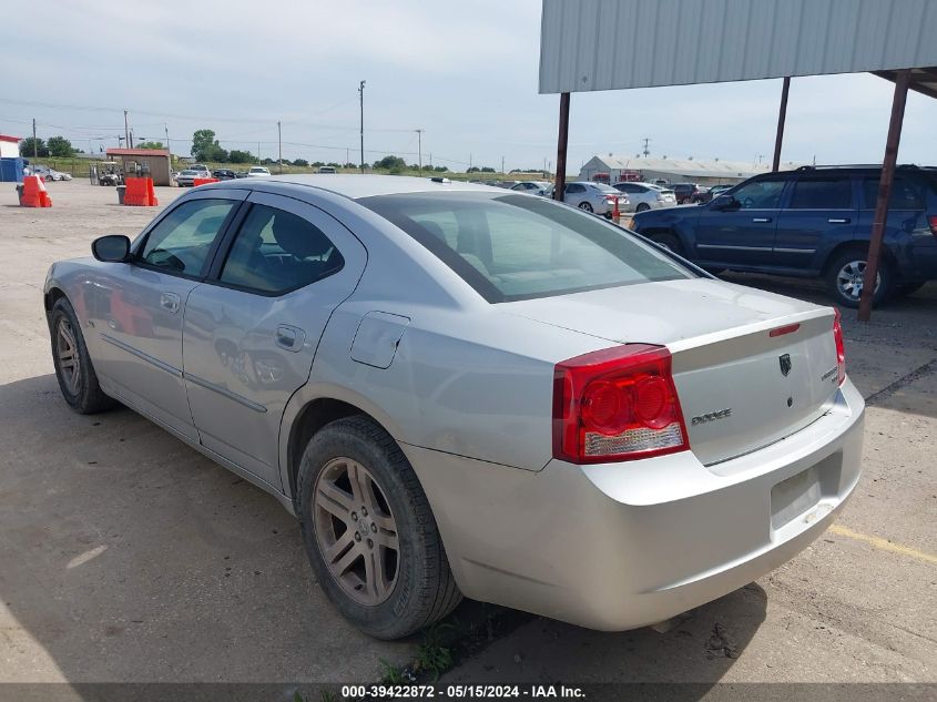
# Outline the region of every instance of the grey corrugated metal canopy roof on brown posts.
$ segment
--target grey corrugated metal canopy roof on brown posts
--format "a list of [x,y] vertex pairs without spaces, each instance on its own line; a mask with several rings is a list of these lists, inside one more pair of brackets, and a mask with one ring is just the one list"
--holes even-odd
[[887,75],[937,67],[935,37],[935,0],[543,0],[540,92]]

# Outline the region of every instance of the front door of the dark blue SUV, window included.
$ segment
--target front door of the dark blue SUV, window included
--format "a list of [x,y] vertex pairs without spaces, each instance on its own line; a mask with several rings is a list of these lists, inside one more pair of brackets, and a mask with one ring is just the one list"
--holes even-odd
[[734,203],[727,208],[716,210],[717,203],[697,205],[694,261],[727,267],[771,265],[786,183],[786,177],[760,177],[734,191]]

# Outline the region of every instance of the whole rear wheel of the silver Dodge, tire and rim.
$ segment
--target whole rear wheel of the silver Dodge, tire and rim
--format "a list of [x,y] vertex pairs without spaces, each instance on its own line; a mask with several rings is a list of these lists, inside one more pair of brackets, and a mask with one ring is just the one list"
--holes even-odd
[[399,639],[461,601],[426,494],[400,447],[370,418],[337,419],[313,436],[297,495],[318,583],[365,633]]

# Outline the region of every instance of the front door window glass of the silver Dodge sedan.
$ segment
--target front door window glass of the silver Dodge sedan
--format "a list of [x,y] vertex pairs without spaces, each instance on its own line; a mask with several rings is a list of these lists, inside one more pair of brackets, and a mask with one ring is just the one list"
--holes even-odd
[[232,200],[190,200],[170,212],[146,236],[138,262],[198,276],[212,244],[237,205]]

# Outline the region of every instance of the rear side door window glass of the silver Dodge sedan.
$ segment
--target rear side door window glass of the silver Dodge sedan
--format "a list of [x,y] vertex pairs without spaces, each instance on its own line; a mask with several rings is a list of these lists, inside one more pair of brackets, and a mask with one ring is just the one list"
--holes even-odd
[[220,281],[281,295],[337,273],[345,260],[329,238],[291,212],[253,205],[224,262]]

